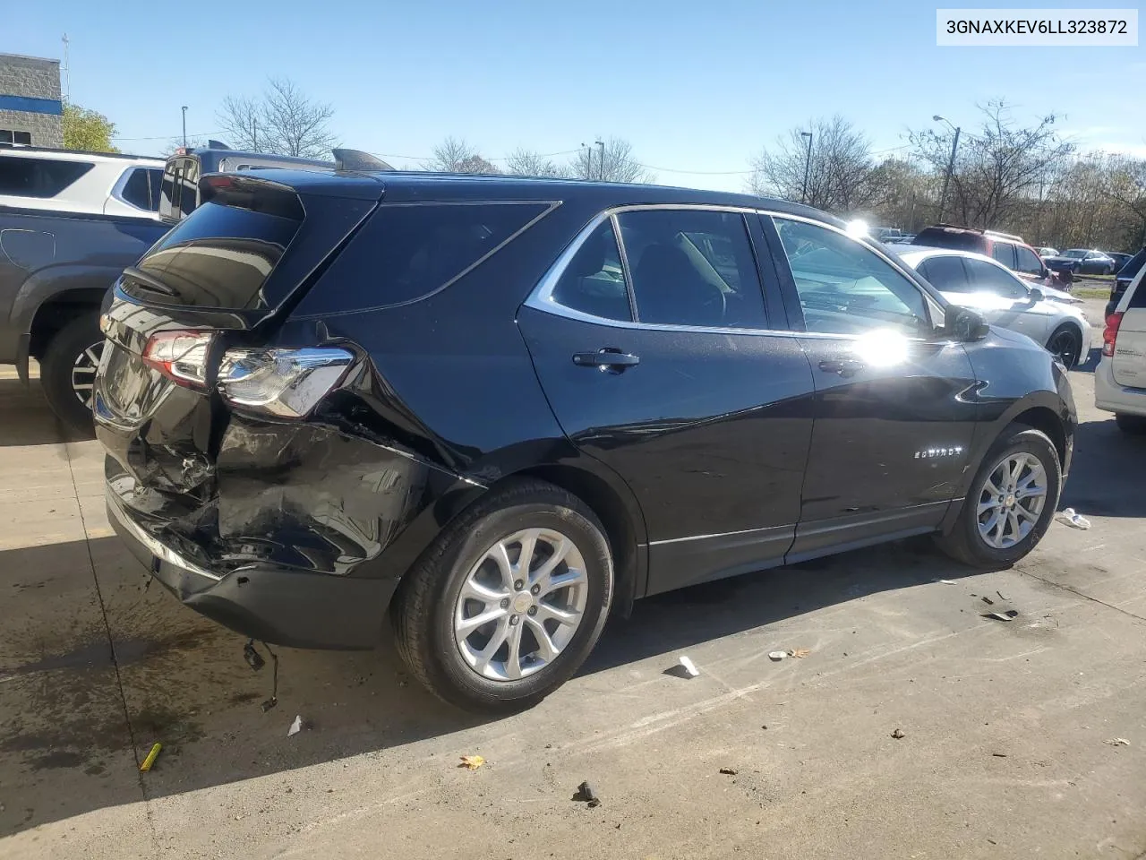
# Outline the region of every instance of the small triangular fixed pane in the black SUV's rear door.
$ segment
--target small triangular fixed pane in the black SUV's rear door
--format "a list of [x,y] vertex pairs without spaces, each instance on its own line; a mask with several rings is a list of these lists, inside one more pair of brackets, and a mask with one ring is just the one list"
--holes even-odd
[[621,252],[611,218],[606,218],[578,249],[554,287],[552,299],[591,316],[620,321],[633,319],[629,288],[625,282]]

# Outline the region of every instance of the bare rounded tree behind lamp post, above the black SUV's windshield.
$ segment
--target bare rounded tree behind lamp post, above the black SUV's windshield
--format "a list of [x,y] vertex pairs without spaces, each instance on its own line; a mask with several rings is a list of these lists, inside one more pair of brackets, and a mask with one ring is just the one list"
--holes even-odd
[[[809,149],[808,133],[811,134]],[[879,200],[871,146],[843,117],[813,119],[780,135],[752,159],[754,194],[800,201],[830,212],[848,213]],[[804,178],[807,177],[807,196]]]

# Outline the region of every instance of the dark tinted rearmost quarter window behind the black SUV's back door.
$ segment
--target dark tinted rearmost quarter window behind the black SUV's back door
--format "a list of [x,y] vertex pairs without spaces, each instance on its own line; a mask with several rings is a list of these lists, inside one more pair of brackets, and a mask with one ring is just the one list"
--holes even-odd
[[548,203],[382,205],[322,279],[346,308],[414,302],[448,287],[549,210]]

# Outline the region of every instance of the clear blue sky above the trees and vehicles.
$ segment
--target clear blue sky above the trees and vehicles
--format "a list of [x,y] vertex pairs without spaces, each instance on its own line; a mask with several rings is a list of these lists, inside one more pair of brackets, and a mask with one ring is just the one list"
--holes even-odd
[[997,97],[1020,119],[1060,114],[1083,148],[1146,156],[1146,48],[939,48],[935,5],[918,0],[39,0],[7,5],[0,52],[60,57],[64,31],[72,100],[142,154],[179,136],[181,104],[188,132],[215,132],[223,96],[285,76],[333,104],[346,146],[399,165],[447,135],[489,158],[617,135],[661,182],[740,190],[731,172],[809,117],[842,114],[890,151],[932,115],[970,126]]

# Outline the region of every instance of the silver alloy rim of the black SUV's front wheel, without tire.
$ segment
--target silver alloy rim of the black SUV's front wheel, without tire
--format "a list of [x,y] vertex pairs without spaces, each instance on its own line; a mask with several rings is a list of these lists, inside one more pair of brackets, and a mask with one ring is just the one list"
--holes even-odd
[[1007,454],[979,491],[979,537],[992,549],[1010,549],[1038,522],[1046,503],[1046,469],[1034,454]]

